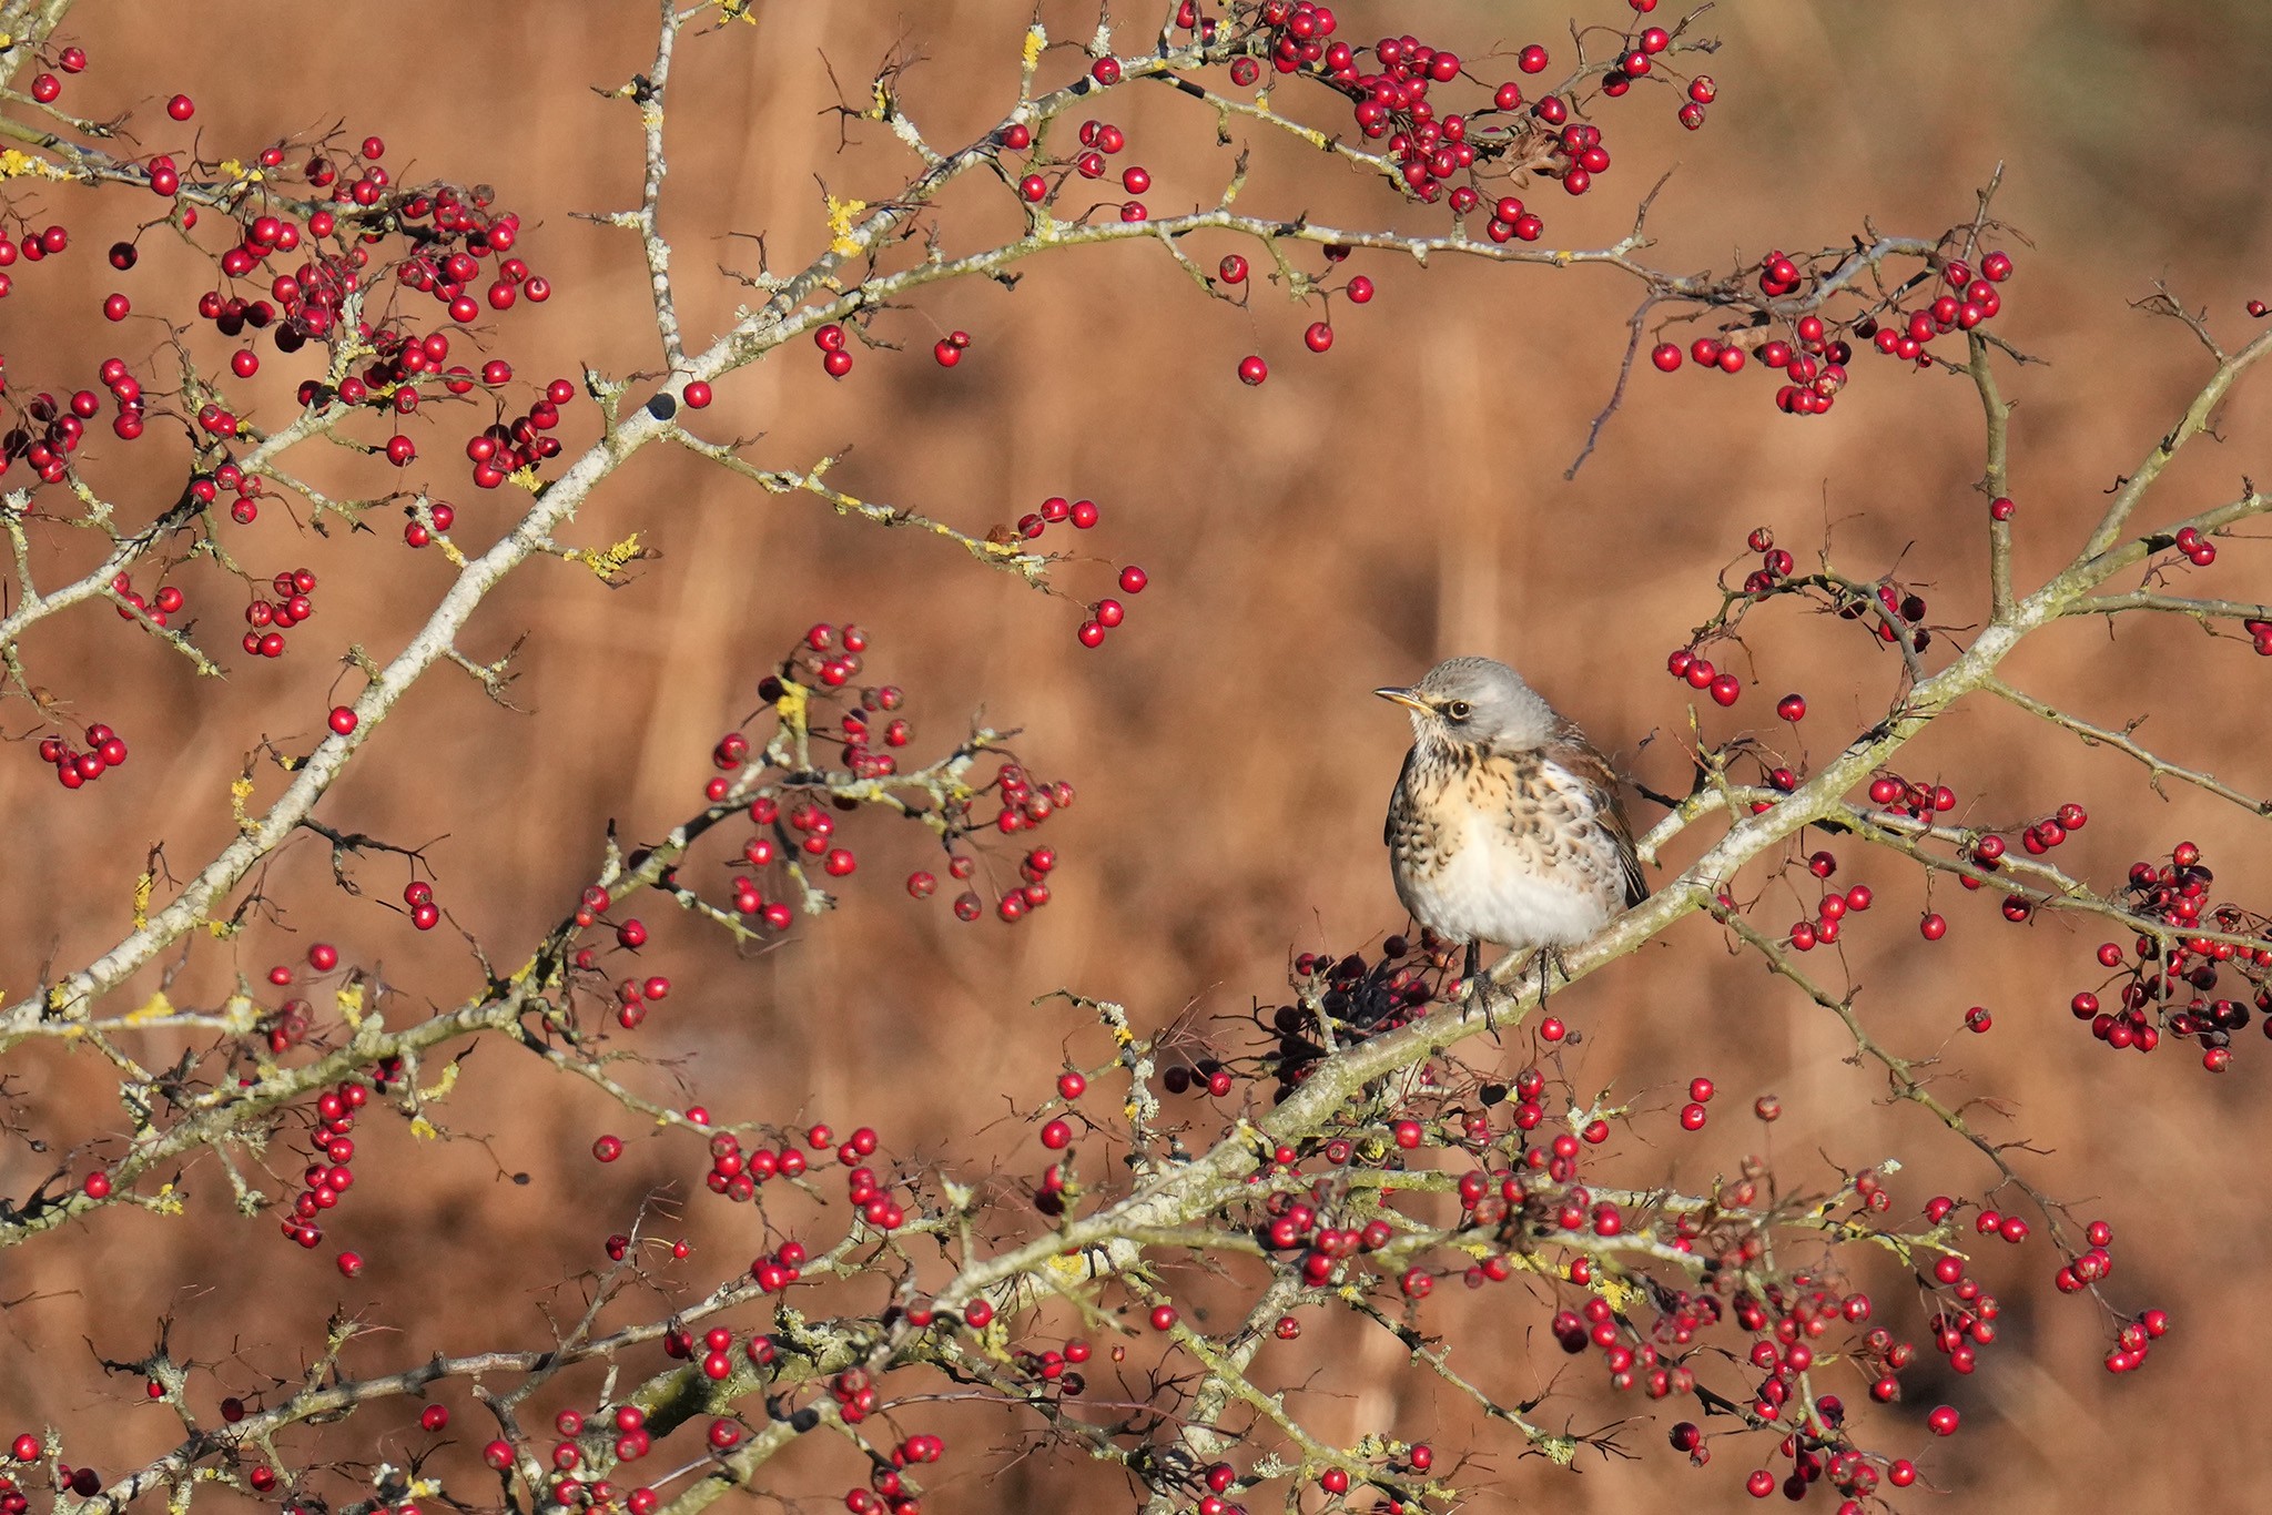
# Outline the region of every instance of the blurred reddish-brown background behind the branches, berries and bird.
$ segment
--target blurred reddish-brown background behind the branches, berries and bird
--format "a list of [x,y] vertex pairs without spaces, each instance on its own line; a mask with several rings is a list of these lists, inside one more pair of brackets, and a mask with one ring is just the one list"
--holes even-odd
[[[1138,9],[1150,25],[1154,7],[1129,7],[1131,36]],[[541,313],[523,307],[495,320],[491,345],[529,379],[573,373],[575,361],[625,373],[657,366],[629,238],[570,211],[636,198],[629,109],[586,84],[616,86],[648,66],[652,14],[620,2],[402,0],[325,16],[266,2],[82,7],[64,39],[82,41],[93,68],[66,104],[139,109],[154,150],[179,141],[159,129],[168,125],[159,104],[179,89],[200,102],[195,127],[211,157],[341,120],[357,136],[384,134],[398,177],[486,179],[527,218],[520,252],[557,286]],[[1045,14],[1059,36],[1095,23],[1079,5],[1052,2]],[[1527,41],[1568,50],[1568,11],[1531,0],[1340,14],[1352,41],[1393,25],[1420,27],[1470,59]],[[838,154],[822,59],[857,98],[888,50],[920,52],[925,66],[902,84],[907,107],[934,143],[959,143],[1006,109],[1025,18],[1006,0],[761,5],[754,27],[688,36],[673,100],[668,229],[691,336],[729,320],[741,293],[711,266],[754,261],[754,245],[727,232],[763,232],[775,268],[800,266],[822,241],[816,175],[838,195],[872,200],[902,173],[900,150],[875,127],[854,129],[854,148]],[[1627,9],[1590,0],[1581,18],[1622,23]],[[2056,566],[2095,518],[2099,491],[2145,454],[2202,375],[2179,327],[2124,302],[2161,275],[2240,341],[2242,300],[2272,293],[2261,195],[2272,98],[2247,66],[2272,43],[2272,18],[2240,0],[1754,2],[1722,7],[1706,30],[1727,41],[1709,64],[1720,82],[1709,127],[1679,132],[1663,91],[1611,102],[1599,120],[1615,168],[1581,202],[1538,186],[1547,241],[1584,248],[1620,236],[1661,164],[1679,166],[1652,220],[1661,245],[1647,257],[1663,268],[1838,245],[1865,218],[1933,234],[1970,216],[1974,186],[2004,161],[1997,211],[2033,245],[2004,238],[2020,273],[1997,325],[2052,363],[2008,379],[2020,402],[2022,570]],[[1070,59],[1052,55],[1045,68],[1070,70]],[[1493,68],[1504,64],[1479,64]],[[1131,91],[1113,111],[1131,139],[1120,164],[1152,168],[1156,214],[1216,200],[1231,154],[1213,148],[1209,118],[1168,91]],[[1236,136],[1256,148],[1243,207],[1359,225],[1388,214],[1354,175],[1261,132]],[[100,248],[127,216],[145,214],[123,200],[45,191],[34,202],[36,220],[73,225],[75,252],[18,268],[16,295],[0,302],[11,393],[89,384],[109,352],[145,370],[161,332],[105,327],[93,313],[100,295],[130,288],[141,311],[159,311],[168,288],[202,286],[182,284],[198,277],[193,263],[161,236],[148,238],[150,257],[130,277],[102,266]],[[947,200],[943,225],[947,250],[961,250],[1009,218],[997,189],[970,184]],[[1204,263],[1234,248],[1193,238]],[[1711,609],[1713,572],[1749,527],[1772,525],[1802,561],[1834,529],[1845,570],[1874,575],[1902,559],[1936,618],[1977,620],[1970,388],[1863,354],[1834,416],[1793,420],[1772,411],[1761,373],[1663,377],[1643,366],[1602,450],[1565,484],[1561,470],[1615,373],[1636,300],[1627,279],[1456,259],[1418,270],[1361,257],[1345,270],[1370,273],[1381,293],[1365,309],[1336,309],[1327,357],[1302,350],[1311,316],[1268,286],[1256,286],[1252,311],[1209,304],[1156,248],[1127,245],[1036,259],[1016,291],[927,293],[916,311],[879,323],[907,352],[863,352],[843,384],[822,379],[800,345],[720,386],[702,422],[709,434],[763,432],[750,454],[782,466],[850,445],[838,484],[972,531],[1050,493],[1095,497],[1104,525],[1079,545],[1152,572],[1104,650],[1075,645],[1072,606],[934,541],[838,522],[811,500],[759,495],[686,459],[643,457],[575,522],[575,541],[636,529],[661,561],[618,593],[579,568],[536,563],[468,636],[468,652],[493,656],[532,634],[513,690],[532,715],[491,706],[443,670],[375,738],[323,815],[402,843],[445,836],[429,854],[441,902],[518,961],[518,945],[573,899],[604,822],[620,820],[634,838],[661,831],[698,797],[711,743],[752,706],[768,659],[811,620],[859,620],[875,636],[870,675],[911,690],[918,743],[950,738],[984,706],[988,720],[1029,731],[1022,754],[1041,772],[1077,784],[1079,804],[1047,834],[1063,854],[1056,902],[1018,929],[959,927],[943,899],[918,906],[895,884],[929,861],[916,838],[859,825],[863,872],[845,909],[800,922],[757,961],[736,963],[688,922],[643,911],[657,929],[650,970],[677,981],[643,1045],[695,1054],[684,1072],[725,1118],[820,1118],[838,1129],[866,1120],[902,1156],[1025,1172],[1029,1136],[1004,1120],[1009,1102],[1043,1097],[1079,1031],[1063,1008],[1031,1008],[1036,995],[1066,986],[1125,999],[1141,1027],[1188,1013],[1206,1029],[1204,1018],[1270,995],[1288,952],[1354,947],[1400,924],[1379,815],[1406,729],[1368,697],[1372,686],[1409,679],[1440,654],[1493,652],[1636,775],[1677,786],[1688,690],[1661,663]],[[972,332],[975,348],[945,373],[927,350],[950,327]],[[193,343],[207,366],[227,352],[209,332]],[[1245,352],[1270,359],[1263,388],[1234,382]],[[289,409],[298,373],[268,361],[252,386],[264,416]],[[2236,472],[2263,470],[2265,420],[2258,382],[2231,407],[2229,443],[2204,443],[2158,509],[2229,497]],[[588,427],[588,407],[570,407],[570,443]],[[429,477],[459,502],[461,536],[488,541],[507,502],[463,488],[459,420],[420,420],[411,432],[425,452],[414,482]],[[159,443],[143,450],[152,461],[136,475],[132,450],[107,436],[93,447],[114,459],[105,477],[118,479],[130,511],[177,488],[175,461],[154,461]],[[368,470],[302,461],[316,477],[370,484]],[[234,656],[236,586],[211,568],[177,579],[209,641],[232,652],[227,684],[191,681],[179,659],[100,609],[50,622],[25,645],[75,718],[116,725],[134,759],[66,795],[27,745],[7,750],[0,802],[14,886],[0,986],[11,995],[41,965],[77,963],[116,940],[152,840],[184,874],[209,854],[227,831],[227,781],[243,754],[261,734],[311,740],[334,704],[332,659],[345,643],[379,656],[400,647],[448,566],[407,552],[391,513],[375,522],[375,536],[318,541],[270,509],[232,534],[259,572],[307,563],[323,577],[318,618],[293,634],[282,663]],[[43,561],[45,581],[73,561],[68,550]],[[1063,577],[1077,595],[1104,593],[1097,563]],[[2204,593],[2263,597],[2272,572],[2261,550],[2236,543],[2195,581]],[[1822,636],[1822,622],[1788,613],[1752,629],[1756,663],[1738,656],[1738,668],[1759,684],[1734,715],[1713,711],[1711,731],[1736,729],[1736,718],[1774,725],[1774,695],[1797,688],[1813,704],[1806,736],[1822,752],[1881,709],[1888,663],[1856,636]],[[2240,643],[2208,643],[2188,625],[2124,625],[2118,638],[2077,625],[2043,638],[2011,672],[2102,722],[2152,715],[2147,734],[2172,756],[2256,793],[2272,788],[2263,740],[2272,670]],[[5,725],[23,734],[23,709]],[[1661,740],[1645,745],[1652,734]],[[2090,827],[2063,859],[2099,879],[2197,836],[2220,893],[2261,902],[2272,888],[2261,834],[2188,793],[2165,804],[2124,761],[2004,709],[1952,715],[1920,743],[1913,772],[1954,784],[1965,815],[1997,822],[2063,800],[2088,804]],[[1654,820],[1652,809],[1640,813]],[[402,884],[379,863],[364,877],[382,899]],[[2249,1479],[2247,1438],[2227,1436],[2222,1417],[2202,1436],[2192,1408],[2208,1374],[2238,1367],[2231,1324],[2256,1295],[2265,1183],[2256,1111],[2272,1061],[2256,1033],[2224,1079],[2177,1045],[2118,1058],[2065,1013],[2065,997],[2099,977],[2093,929],[2061,920],[2013,929],[1990,904],[1945,890],[1936,904],[1952,915],[1949,938],[1920,949],[1913,879],[1858,856],[1843,879],[1881,890],[1879,913],[1845,943],[1879,1036],[1931,1052],[1968,1004],[1993,1006],[1995,1031],[1952,1047],[1945,1090],[1997,1099],[2011,1122],[1981,1111],[1993,1129],[2052,1149],[2027,1158],[2029,1172],[2058,1195],[2097,1197],[2090,1213],[2118,1229],[2115,1295],[2167,1306],[2179,1322],[2142,1376],[2111,1381],[2093,1306],[2047,1290],[2047,1242],[1999,1247],[1983,1277],[2006,1299],[2008,1347],[1986,1354],[1972,1381],[1913,1383],[1902,1411],[1877,1413],[1872,1445],[1918,1454],[1943,1485],[2006,1510],[2272,1508]],[[448,929],[416,938],[398,913],[327,890],[316,847],[293,849],[264,888],[286,913],[229,947],[200,947],[184,986],[220,990],[234,972],[257,977],[298,959],[309,940],[384,961],[404,988],[398,1018],[477,984]],[[1784,904],[1770,897],[1763,924],[1781,924],[1786,906],[1795,918],[1788,890]],[[1818,968],[1831,970],[1824,954]],[[1877,1104],[1881,1079],[1840,1061],[1836,1027],[1752,963],[1727,959],[1695,922],[1559,1008],[1586,1031],[1570,1063],[1579,1086],[1615,1083],[1659,1111],[1697,1072],[1724,1090],[1699,1138],[1663,1145],[1663,1115],[1647,1133],[1618,1138],[1636,1181],[1706,1181],[1756,1149],[1763,1136],[1743,1106],[1761,1090],[1779,1093],[1788,1111],[1772,1149],[1795,1181],[1822,1181],[1827,1163],[1899,1154],[1911,1165],[1895,1195],[1915,1206],[1936,1190],[1977,1195],[1990,1177],[1911,1111]],[[1095,1036],[1075,1038],[1072,1052],[1095,1061]],[[93,1056],[16,1052],[9,1074],[16,1118],[50,1142],[118,1124]],[[16,1249],[0,1288],[14,1301],[0,1431],[61,1424],[66,1456],[100,1470],[170,1445],[170,1417],[143,1406],[141,1383],[102,1379],[93,1365],[95,1354],[139,1356],[161,1313],[177,1317],[177,1351],[220,1363],[239,1390],[259,1386],[254,1367],[293,1372],[341,1301],[384,1329],[350,1358],[359,1370],[409,1365],[438,1347],[541,1345],[541,1311],[573,1308],[550,1286],[598,1261],[641,1181],[677,1181],[684,1192],[700,1174],[682,1140],[634,1142],[623,1165],[595,1170],[591,1138],[623,1129],[623,1118],[502,1049],[473,1058],[448,1118],[486,1142],[414,1149],[395,1120],[357,1133],[359,1186],[320,1254],[279,1240],[270,1220],[229,1222],[211,1163],[189,1174],[189,1220],[109,1213]],[[0,1190],[20,1195],[52,1165],[55,1156],[16,1142],[0,1156]],[[284,1179],[268,1188],[289,1192],[295,1161],[279,1154],[277,1170]],[[516,1186],[504,1172],[532,1181]],[[666,1231],[695,1238],[693,1272],[682,1277],[704,1283],[738,1265],[752,1231],[747,1211],[695,1199]],[[341,1281],[329,1265],[336,1247],[364,1252],[370,1272]],[[1450,1301],[1436,1320],[1461,1333],[1459,1356],[1486,1383],[1534,1392],[1561,1361],[1552,1342],[1534,1349],[1522,1336],[1545,1311],[1484,1299],[1490,1308]],[[1881,1311],[1922,1336],[1913,1301],[1895,1292]],[[1381,1345],[1336,1356],[1347,1340],[1320,1333],[1311,1342],[1320,1356],[1286,1356],[1286,1381],[1318,1370],[1306,1404],[1322,1433],[1390,1429],[1465,1445],[1456,1401],[1402,1372]],[[211,1379],[200,1386],[209,1417]],[[1568,1388],[1550,1411],[1568,1406],[1577,1426],[1649,1413],[1611,1404],[1590,1370]],[[1861,1399],[1858,1381],[1838,1388]],[[1940,1399],[1963,1408],[1965,1433],[1927,1447],[1922,1413]],[[486,1436],[461,1390],[450,1401],[466,1436]],[[1690,1472],[1663,1451],[1670,1420],[1629,1429],[1627,1440],[1649,1454],[1640,1463],[1588,1456],[1577,1474],[1518,1463],[1502,1438],[1486,1438],[1495,1454],[1481,1504],[1629,1510],[1672,1495],[1693,1508],[1747,1504],[1743,1470],[1765,1447],[1722,1438],[1713,1467]],[[934,1508],[1120,1504],[1118,1488],[1086,1470],[1020,1463],[1006,1481],[988,1481],[984,1447],[1002,1424],[947,1424],[959,1472],[938,1485]],[[427,1440],[400,1406],[357,1417],[350,1433],[354,1447],[398,1458]],[[843,1463],[836,1449],[800,1449],[775,1488],[834,1499],[852,1474]]]

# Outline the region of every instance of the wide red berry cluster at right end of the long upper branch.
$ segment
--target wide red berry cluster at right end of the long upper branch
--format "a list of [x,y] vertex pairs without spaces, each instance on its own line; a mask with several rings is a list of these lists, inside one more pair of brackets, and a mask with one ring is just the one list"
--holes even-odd
[[[1709,79],[1697,79],[1697,84],[1706,84],[1709,98]],[[1993,320],[2004,309],[1997,284],[2011,277],[2011,257],[1990,252],[1981,259],[1979,273],[1961,259],[1947,259],[1938,263],[1938,275],[1947,293],[1915,311],[1895,307],[1886,311],[1883,320],[1874,313],[1863,313],[1836,325],[1824,323],[1815,311],[1806,311],[1797,320],[1790,320],[1788,334],[1781,336],[1770,336],[1777,329],[1774,320],[1740,329],[1727,327],[1718,336],[1695,338],[1688,345],[1686,359],[1699,368],[1743,373],[1749,359],[1759,357],[1761,363],[1786,379],[1774,391],[1774,407],[1779,411],[1786,416],[1822,416],[1831,409],[1838,391],[1847,386],[1847,363],[1854,359],[1854,343],[1868,341],[1886,357],[1927,368],[1936,361],[1927,350],[1936,336],[1970,332],[1983,320]],[[1818,277],[1813,259],[1802,268],[1797,259],[1770,252],[1759,266],[1759,293],[1770,302],[1788,300],[1811,277]],[[1772,316],[1772,311],[1768,313]],[[1649,361],[1659,370],[1672,373],[1681,366],[1684,354],[1679,343],[1659,343],[1649,352]]]

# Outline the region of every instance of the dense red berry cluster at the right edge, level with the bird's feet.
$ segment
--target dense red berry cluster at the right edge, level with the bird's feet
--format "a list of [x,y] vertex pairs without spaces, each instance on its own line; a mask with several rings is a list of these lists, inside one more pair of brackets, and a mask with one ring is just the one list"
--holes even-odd
[[[2261,915],[2240,906],[2211,904],[2213,881],[2195,843],[2179,843],[2161,865],[2131,863],[2122,902],[2186,936],[2170,943],[2138,936],[2131,952],[2120,943],[2099,945],[2099,965],[2120,974],[2118,1008],[2102,1006],[2093,990],[2079,990],[2068,1002],[2097,1040],[2152,1052],[2163,1036],[2177,1036],[2199,1043],[2202,1068],[2224,1072],[2233,1061],[2233,1033],[2247,1029],[2254,1015],[2265,1015],[2265,1033],[2272,1036],[2272,947],[2190,936],[2204,924],[2224,936],[2263,936],[2267,929]],[[2215,993],[2227,972],[2240,979],[2238,995]]]

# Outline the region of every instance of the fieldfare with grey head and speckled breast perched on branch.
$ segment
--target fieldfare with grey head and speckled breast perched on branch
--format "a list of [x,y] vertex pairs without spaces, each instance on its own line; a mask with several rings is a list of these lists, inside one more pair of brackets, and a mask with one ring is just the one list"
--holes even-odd
[[1513,668],[1456,656],[1372,693],[1413,718],[1384,834],[1397,897],[1465,943],[1470,981],[1481,943],[1545,965],[1649,897],[1615,770]]

